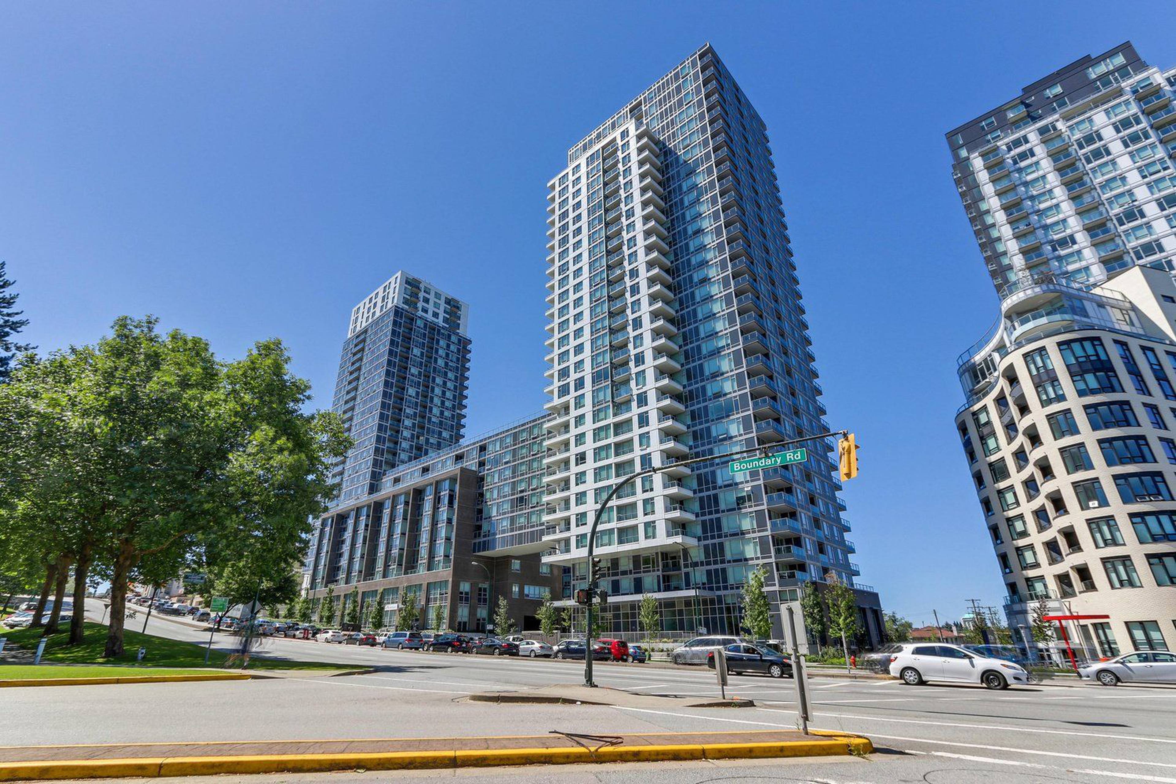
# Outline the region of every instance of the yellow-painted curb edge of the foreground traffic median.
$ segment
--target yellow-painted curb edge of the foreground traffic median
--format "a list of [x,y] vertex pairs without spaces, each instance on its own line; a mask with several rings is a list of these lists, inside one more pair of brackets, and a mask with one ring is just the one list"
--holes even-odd
[[850,735],[822,735],[808,741],[776,743],[607,746],[596,751],[583,748],[561,748],[71,759],[0,763],[0,780],[326,772],[356,769],[437,770],[502,765],[564,765],[573,763],[666,762],[682,759],[831,757],[860,756],[870,753],[871,751],[874,751],[874,745],[869,738]]

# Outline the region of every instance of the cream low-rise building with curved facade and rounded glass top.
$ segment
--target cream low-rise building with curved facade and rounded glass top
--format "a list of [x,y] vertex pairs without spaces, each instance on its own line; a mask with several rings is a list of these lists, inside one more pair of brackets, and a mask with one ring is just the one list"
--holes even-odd
[[1171,275],[1136,267],[1093,289],[1029,279],[1001,309],[961,357],[956,427],[1010,626],[1028,636],[1044,598],[1050,612],[1109,616],[1069,624],[1090,656],[1176,649]]

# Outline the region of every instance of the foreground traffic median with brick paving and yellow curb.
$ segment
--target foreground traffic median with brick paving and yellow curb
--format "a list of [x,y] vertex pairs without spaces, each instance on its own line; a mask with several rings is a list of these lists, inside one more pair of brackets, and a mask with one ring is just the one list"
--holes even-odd
[[861,736],[795,730],[7,746],[0,748],[0,780],[826,757],[873,750]]

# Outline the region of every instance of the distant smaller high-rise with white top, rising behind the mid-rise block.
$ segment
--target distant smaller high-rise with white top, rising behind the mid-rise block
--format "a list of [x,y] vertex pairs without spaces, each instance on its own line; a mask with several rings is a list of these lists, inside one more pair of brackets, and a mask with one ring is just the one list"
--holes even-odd
[[399,272],[352,310],[333,409],[355,445],[339,500],[369,495],[385,471],[461,441],[469,383],[469,306]]

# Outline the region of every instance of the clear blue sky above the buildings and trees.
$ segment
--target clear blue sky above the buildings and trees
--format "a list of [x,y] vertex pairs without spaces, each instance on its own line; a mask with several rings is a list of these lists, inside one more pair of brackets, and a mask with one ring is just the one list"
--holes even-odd
[[[153,313],[283,339],[329,406],[350,308],[400,268],[472,304],[469,434],[539,410],[546,183],[709,40],[768,123],[844,497],[886,608],[1000,604],[956,440],[996,299],[949,128],[1176,4],[6,4],[0,259],[42,349]],[[1097,21],[1095,21],[1097,20]]]

